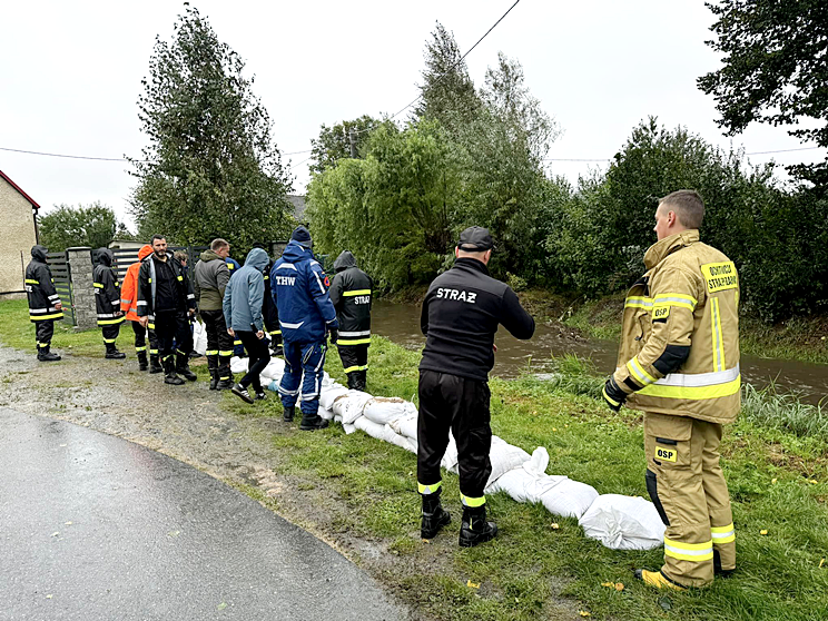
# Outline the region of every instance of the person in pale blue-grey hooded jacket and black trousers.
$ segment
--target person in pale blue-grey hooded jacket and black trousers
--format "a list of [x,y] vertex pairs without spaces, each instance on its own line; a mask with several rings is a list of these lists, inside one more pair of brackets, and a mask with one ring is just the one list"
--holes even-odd
[[264,333],[262,306],[265,299],[265,277],[269,258],[262,248],[254,248],[247,255],[245,266],[233,275],[227,283],[224,295],[224,316],[227,333],[241,341],[247,349],[247,374],[235,384],[230,392],[247,403],[254,397],[247,392],[253,385],[255,400],[265,398],[265,391],[259,382],[259,374],[270,362],[270,353]]

